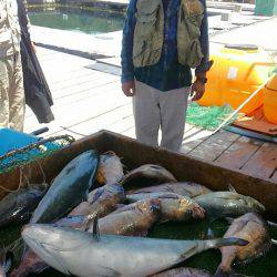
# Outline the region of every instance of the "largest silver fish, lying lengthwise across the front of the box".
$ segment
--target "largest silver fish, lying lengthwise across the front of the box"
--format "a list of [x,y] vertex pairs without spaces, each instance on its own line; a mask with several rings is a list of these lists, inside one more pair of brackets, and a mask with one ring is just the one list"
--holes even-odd
[[226,245],[246,245],[237,238],[174,240],[99,235],[49,225],[28,225],[24,242],[44,261],[65,275],[142,277],[165,270],[191,256]]

